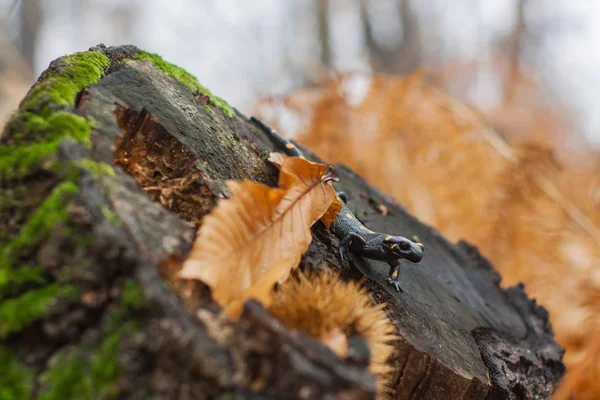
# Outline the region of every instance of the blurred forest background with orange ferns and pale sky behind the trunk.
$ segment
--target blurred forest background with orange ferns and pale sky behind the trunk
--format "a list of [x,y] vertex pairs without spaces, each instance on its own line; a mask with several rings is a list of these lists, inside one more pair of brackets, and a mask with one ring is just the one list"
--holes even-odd
[[0,126],[48,63],[159,53],[344,162],[550,312],[600,398],[597,0],[0,0]]

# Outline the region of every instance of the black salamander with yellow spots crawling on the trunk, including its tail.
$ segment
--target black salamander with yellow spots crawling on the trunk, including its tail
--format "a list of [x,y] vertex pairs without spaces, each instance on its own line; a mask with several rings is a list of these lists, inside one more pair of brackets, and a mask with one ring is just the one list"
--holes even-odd
[[[263,130],[271,142],[288,156],[303,157],[302,152],[289,140],[279,135],[274,129],[259,119],[252,117],[251,121]],[[337,193],[342,202],[342,209],[328,229],[340,239],[339,254],[342,262],[347,260],[350,251],[357,257],[384,261],[389,264],[388,283],[400,292],[398,281],[400,260],[405,259],[418,263],[423,258],[424,246],[402,236],[388,235],[371,231],[364,226],[346,205],[343,192]]]

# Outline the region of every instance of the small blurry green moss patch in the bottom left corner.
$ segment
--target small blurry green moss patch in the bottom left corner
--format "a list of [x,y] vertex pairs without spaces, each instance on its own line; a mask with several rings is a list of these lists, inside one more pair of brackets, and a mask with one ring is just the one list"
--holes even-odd
[[28,400],[33,371],[20,363],[10,350],[0,346],[0,400]]

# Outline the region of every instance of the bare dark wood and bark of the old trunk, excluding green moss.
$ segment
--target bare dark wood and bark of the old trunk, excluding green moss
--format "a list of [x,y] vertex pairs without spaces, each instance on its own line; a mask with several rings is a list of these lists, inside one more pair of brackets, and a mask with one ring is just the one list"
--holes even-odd
[[[83,294],[57,302],[48,316],[2,344],[19,348],[18,360],[39,377],[66,349],[102,348],[111,315],[128,284],[137,282],[143,301],[130,304],[119,320],[120,326],[135,322],[135,329],[119,336],[119,373],[107,398],[372,398],[374,380],[364,365],[286,330],[259,304],[247,303],[232,322],[201,285],[165,283],[169,260],[185,258],[190,249],[192,226],[227,195],[225,180],[275,183],[276,170],[261,157],[272,146],[245,116],[225,116],[147,61],[120,62],[137,49],[96,50],[111,59],[109,73],[85,89],[71,111],[94,118],[93,147],[65,142],[57,157],[115,165],[116,173],[84,173],[69,202],[67,232],[58,227],[21,255]],[[5,134],[9,143],[15,132]],[[387,285],[381,263],[351,257],[352,265],[341,264],[337,239],[320,224],[302,261],[305,268],[327,263],[351,278],[364,273],[374,299],[388,303],[403,338],[393,359],[393,397],[548,397],[564,366],[545,310],[522,288],[499,288],[499,275],[472,246],[449,243],[347,168],[336,172],[349,206],[371,229],[416,234],[426,245],[420,264],[403,266],[401,294]],[[47,175],[29,174],[27,182],[32,196],[48,192]],[[12,224],[16,231],[23,221]],[[78,237],[91,244],[74,251]],[[66,277],[57,272],[84,263]],[[184,302],[174,288],[192,295]],[[35,382],[43,392],[45,383]]]

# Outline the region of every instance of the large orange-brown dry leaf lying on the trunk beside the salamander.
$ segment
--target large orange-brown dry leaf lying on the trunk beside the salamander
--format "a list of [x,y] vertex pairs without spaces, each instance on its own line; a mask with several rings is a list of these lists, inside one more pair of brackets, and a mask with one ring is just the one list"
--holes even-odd
[[231,317],[249,298],[268,305],[275,283],[288,277],[308,248],[311,225],[335,198],[329,171],[289,157],[280,165],[279,188],[228,181],[231,198],[204,218],[179,277],[210,286]]

